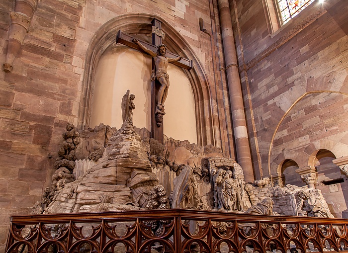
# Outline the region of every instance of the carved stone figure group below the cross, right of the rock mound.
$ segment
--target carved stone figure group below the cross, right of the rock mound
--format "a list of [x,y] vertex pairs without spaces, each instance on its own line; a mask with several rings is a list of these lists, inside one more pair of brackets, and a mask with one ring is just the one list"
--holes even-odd
[[171,193],[172,208],[205,209],[202,201],[202,185],[210,184],[214,190],[214,209],[243,212],[242,196],[245,182],[230,168],[208,169],[177,165],[162,156],[149,157],[152,172],[159,178],[159,183]]

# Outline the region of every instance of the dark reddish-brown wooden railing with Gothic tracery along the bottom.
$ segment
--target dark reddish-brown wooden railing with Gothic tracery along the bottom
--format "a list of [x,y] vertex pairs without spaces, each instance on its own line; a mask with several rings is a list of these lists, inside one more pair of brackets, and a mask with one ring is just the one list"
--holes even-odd
[[6,253],[348,252],[348,220],[166,209],[12,216]]

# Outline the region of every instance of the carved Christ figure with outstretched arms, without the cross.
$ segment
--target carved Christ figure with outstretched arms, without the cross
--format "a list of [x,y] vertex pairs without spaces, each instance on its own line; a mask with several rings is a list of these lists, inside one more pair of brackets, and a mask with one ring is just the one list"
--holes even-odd
[[181,60],[181,56],[177,58],[167,58],[167,47],[161,44],[157,47],[157,53],[145,47],[137,39],[133,39],[133,42],[137,44],[145,53],[151,55],[154,58],[156,66],[156,79],[160,82],[161,88],[157,94],[157,108],[164,111],[164,103],[168,95],[169,88],[169,75],[167,73],[167,67],[169,62],[177,62]]

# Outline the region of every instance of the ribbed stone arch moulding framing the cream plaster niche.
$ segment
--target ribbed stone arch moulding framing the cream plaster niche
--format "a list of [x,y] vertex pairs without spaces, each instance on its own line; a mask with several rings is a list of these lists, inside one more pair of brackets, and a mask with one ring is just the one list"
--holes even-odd
[[[165,43],[169,51],[192,60],[193,68],[184,70],[193,90],[196,113],[198,145],[212,144],[219,147],[214,133],[213,103],[209,82],[203,67],[184,38],[161,17],[150,14],[126,14],[111,19],[94,34],[86,56],[83,90],[79,109],[78,127],[88,125],[91,113],[91,102],[95,81],[95,69],[105,50],[116,41],[118,30],[128,34],[151,34],[151,21],[156,18],[162,22],[162,30],[166,33]],[[216,112],[217,113],[217,112]]]

